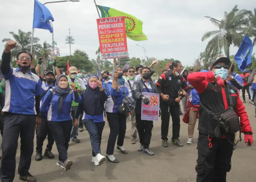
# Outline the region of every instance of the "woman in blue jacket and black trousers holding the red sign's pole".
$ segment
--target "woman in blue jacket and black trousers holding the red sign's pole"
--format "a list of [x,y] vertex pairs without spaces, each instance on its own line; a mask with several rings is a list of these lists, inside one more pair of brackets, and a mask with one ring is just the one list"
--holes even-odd
[[[116,78],[118,79],[118,85],[116,85]],[[125,87],[124,84],[125,79],[123,77],[123,70],[120,66],[116,66],[116,70],[113,68],[113,80],[109,80],[107,84],[111,98],[109,98],[108,102],[106,103],[106,116],[108,118],[110,127],[106,158],[113,163],[119,162],[113,155],[117,135],[118,138],[116,148],[123,154],[127,154],[127,151],[123,147],[126,131],[126,114],[121,114],[118,112],[118,107],[122,104],[124,97],[129,94],[128,88]],[[119,87],[119,92],[117,92],[116,87]]]

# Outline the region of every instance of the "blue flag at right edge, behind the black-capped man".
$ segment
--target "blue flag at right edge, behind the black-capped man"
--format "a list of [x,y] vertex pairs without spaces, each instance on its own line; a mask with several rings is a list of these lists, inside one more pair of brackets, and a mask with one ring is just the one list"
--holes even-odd
[[234,56],[238,68],[242,72],[245,72],[244,70],[252,62],[252,52],[253,42],[247,35],[245,35],[236,55]]

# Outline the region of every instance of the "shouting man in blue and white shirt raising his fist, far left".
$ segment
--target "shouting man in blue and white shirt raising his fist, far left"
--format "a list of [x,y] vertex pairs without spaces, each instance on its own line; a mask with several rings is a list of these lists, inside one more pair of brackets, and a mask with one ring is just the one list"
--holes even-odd
[[[18,67],[11,68],[11,50],[16,47],[14,40],[6,43],[2,54],[1,72],[6,80],[4,132],[2,138],[1,181],[13,181],[15,176],[15,157],[20,136],[19,179],[35,182],[29,173],[34,149],[35,124],[41,125],[39,118],[41,80],[30,71],[32,55],[22,51],[16,56]],[[36,122],[35,122],[36,121]]]

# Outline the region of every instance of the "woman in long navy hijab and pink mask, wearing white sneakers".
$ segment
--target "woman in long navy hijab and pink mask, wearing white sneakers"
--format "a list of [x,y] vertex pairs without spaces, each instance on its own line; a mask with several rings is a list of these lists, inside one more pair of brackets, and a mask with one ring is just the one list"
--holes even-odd
[[[101,155],[100,144],[102,131],[105,125],[104,122],[104,103],[108,95],[105,93],[102,82],[97,75],[89,77],[89,84],[86,90],[83,90],[80,95],[80,103],[76,112],[76,119],[83,114],[83,123],[86,130],[89,132],[91,147],[93,148],[93,162],[96,166],[102,164],[106,158]],[[85,114],[86,113],[86,114]]]

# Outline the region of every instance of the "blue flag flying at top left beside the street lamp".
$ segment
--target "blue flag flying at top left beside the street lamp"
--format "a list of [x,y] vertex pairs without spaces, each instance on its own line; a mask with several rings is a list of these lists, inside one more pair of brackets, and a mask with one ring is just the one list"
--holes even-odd
[[53,33],[53,28],[49,20],[54,21],[51,12],[40,3],[38,0],[34,2],[34,18],[33,18],[33,29],[45,29]]

